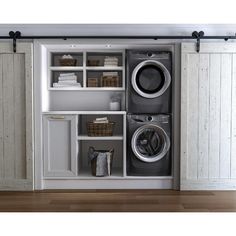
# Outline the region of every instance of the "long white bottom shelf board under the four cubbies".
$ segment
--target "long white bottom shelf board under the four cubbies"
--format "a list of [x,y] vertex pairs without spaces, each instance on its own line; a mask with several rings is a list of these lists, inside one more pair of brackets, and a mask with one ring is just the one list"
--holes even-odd
[[54,87],[50,87],[48,90],[51,90],[51,91],[86,91],[86,92],[89,92],[89,91],[125,91],[125,88],[123,87],[99,87],[99,88],[88,88],[88,87],[64,87],[64,88],[54,88]]

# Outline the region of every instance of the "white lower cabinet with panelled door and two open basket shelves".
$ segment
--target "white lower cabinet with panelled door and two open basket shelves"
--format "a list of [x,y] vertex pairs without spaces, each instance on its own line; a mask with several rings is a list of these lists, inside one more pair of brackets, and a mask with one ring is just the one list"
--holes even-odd
[[[111,176],[125,176],[126,113],[74,112],[75,114],[44,114],[44,176],[98,178],[91,174],[89,147],[96,150],[114,149]],[[88,136],[87,122],[107,117],[115,123],[112,136]]]

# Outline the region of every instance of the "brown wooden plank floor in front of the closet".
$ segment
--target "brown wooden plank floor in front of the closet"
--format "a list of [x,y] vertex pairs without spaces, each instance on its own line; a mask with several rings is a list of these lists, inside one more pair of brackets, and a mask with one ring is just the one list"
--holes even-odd
[[236,191],[0,192],[1,212],[236,212]]

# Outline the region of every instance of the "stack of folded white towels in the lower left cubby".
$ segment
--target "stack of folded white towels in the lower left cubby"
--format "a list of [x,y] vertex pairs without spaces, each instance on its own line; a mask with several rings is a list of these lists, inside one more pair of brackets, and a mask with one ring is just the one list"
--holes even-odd
[[77,82],[75,73],[61,73],[53,87],[81,87],[81,84]]

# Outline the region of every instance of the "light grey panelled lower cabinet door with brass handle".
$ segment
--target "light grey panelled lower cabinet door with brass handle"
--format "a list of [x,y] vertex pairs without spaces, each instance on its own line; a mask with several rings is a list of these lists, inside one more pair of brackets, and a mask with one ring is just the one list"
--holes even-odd
[[43,117],[44,176],[77,175],[77,117]]

